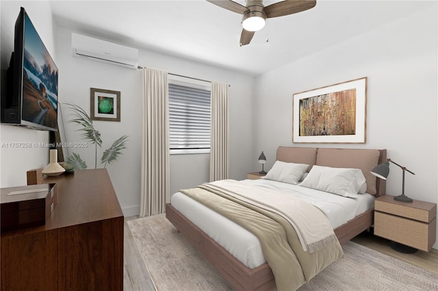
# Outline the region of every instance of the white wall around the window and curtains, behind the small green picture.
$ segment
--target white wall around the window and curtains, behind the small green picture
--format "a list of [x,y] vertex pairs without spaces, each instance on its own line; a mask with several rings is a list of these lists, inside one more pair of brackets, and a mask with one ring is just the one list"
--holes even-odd
[[[127,150],[119,161],[107,166],[114,189],[125,215],[138,214],[140,210],[140,137],[142,135],[142,71],[129,70],[110,64],[71,55],[71,32],[58,27],[56,48],[60,68],[60,102],[73,102],[90,112],[90,87],[120,91],[120,122],[99,122],[93,124],[101,132],[103,149],[121,135],[129,135]],[[81,31],[75,31],[81,33]],[[98,36],[94,36],[98,37]],[[252,154],[252,87],[253,77],[244,74],[197,64],[160,53],[140,50],[141,66],[159,68],[188,77],[220,81],[231,84],[230,124],[231,124],[231,178],[245,178],[250,171]],[[63,107],[66,139],[68,142],[81,141],[73,124],[68,124],[68,110]],[[77,152],[94,167],[94,149],[76,148]],[[98,158],[102,150],[99,150]],[[101,167],[98,165],[98,167]],[[209,180],[209,154],[172,155],[170,158],[170,191],[196,186]]]

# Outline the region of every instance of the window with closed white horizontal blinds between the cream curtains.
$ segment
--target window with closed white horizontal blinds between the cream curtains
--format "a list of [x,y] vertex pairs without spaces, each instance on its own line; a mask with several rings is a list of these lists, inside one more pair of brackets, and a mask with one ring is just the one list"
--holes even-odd
[[211,83],[169,75],[170,154],[210,152]]

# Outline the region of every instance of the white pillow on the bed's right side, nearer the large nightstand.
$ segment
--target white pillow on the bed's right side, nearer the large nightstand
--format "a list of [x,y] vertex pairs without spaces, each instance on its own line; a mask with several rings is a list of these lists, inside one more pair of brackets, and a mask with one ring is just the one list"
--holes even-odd
[[365,177],[360,169],[314,165],[300,186],[356,198],[364,182]]

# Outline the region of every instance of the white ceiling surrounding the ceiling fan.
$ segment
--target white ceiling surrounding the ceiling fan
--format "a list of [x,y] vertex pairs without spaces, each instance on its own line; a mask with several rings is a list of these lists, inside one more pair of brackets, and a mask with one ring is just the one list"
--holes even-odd
[[[279,1],[263,4],[275,2]],[[252,76],[420,10],[437,9],[436,1],[318,0],[311,10],[268,19],[252,42],[241,47],[240,14],[204,0],[50,1],[50,5],[61,27]]]

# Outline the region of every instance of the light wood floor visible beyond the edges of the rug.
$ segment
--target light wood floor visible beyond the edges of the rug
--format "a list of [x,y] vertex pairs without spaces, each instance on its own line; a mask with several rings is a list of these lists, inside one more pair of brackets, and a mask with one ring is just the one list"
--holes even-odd
[[[125,217],[123,290],[153,291],[156,290],[156,288],[151,276],[149,275],[147,266],[143,262],[142,255],[138,250],[136,242],[131,234],[131,230],[129,230],[127,225],[127,221],[137,218],[138,216]],[[352,241],[438,274],[438,250],[436,249],[432,249],[430,252],[417,251],[416,253],[411,254],[398,253],[391,249],[389,240],[368,233],[360,234],[356,238],[353,238]]]

